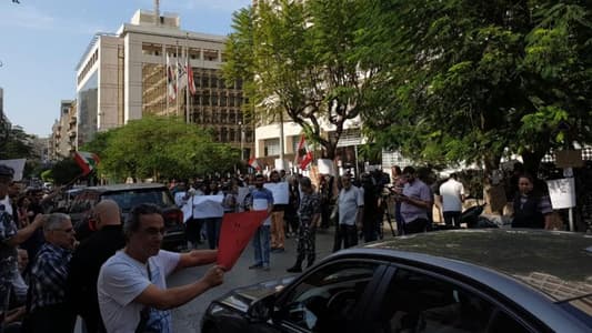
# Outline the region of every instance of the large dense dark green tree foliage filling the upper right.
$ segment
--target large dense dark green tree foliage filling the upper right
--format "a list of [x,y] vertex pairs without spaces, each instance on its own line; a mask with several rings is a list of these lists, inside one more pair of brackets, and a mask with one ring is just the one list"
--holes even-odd
[[368,133],[423,161],[508,152],[534,170],[553,148],[591,141],[586,0],[365,1],[359,57],[385,65]]

